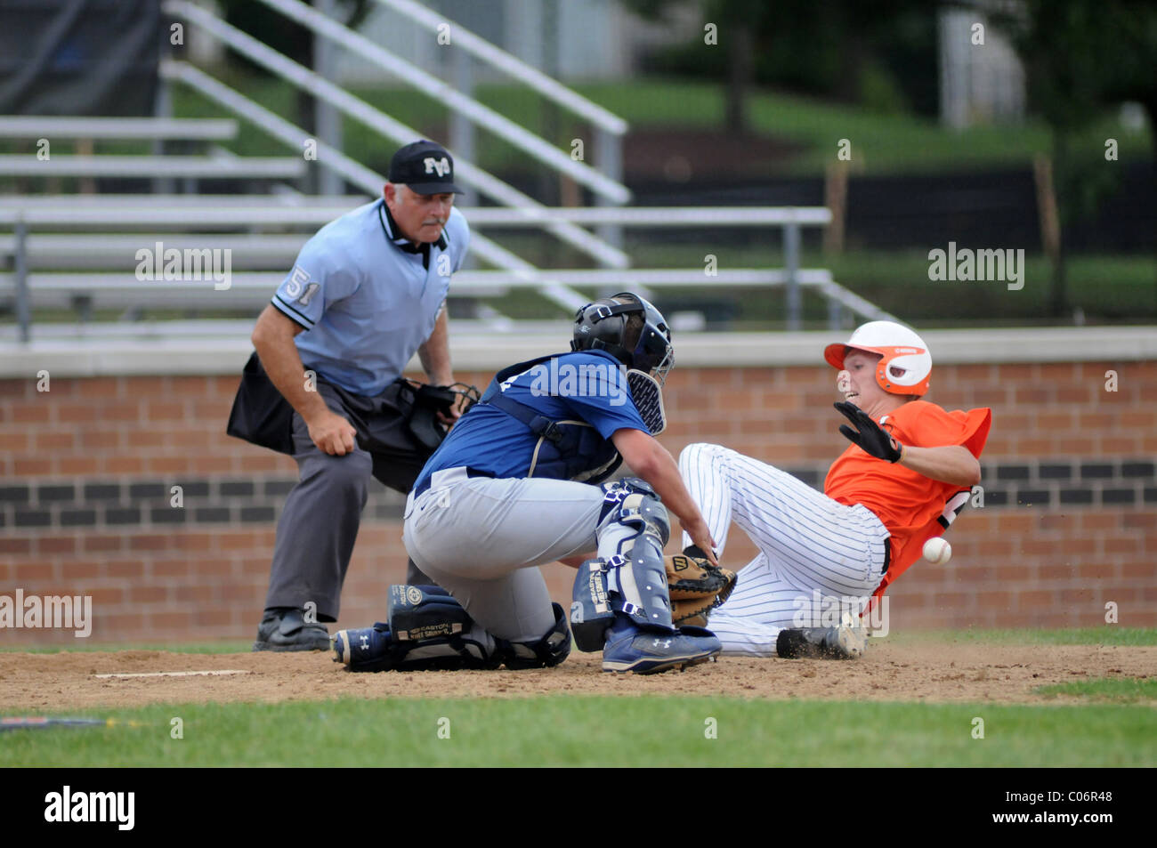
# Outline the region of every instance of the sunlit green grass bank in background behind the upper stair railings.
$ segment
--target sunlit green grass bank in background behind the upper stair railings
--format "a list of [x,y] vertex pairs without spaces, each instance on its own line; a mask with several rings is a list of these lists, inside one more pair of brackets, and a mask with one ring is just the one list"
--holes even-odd
[[[282,117],[296,120],[294,89],[279,80],[227,73],[224,80]],[[595,103],[625,118],[633,130],[712,130],[723,124],[723,87],[705,82],[669,79],[636,79],[577,86]],[[356,88],[353,93],[397,120],[430,135],[445,135],[448,110],[425,94],[411,89]],[[214,117],[220,109],[184,86],[175,87],[174,109],[180,117]],[[550,134],[560,149],[569,150],[573,138],[590,139],[584,121],[559,111],[553,118],[540,97],[511,86],[479,86],[476,96],[515,123],[536,132],[553,126]],[[946,130],[933,119],[916,116],[874,112],[867,109],[830,104],[806,97],[757,89],[750,102],[752,131],[774,135],[801,147],[801,154],[786,170],[795,174],[820,172],[833,161],[840,139],[852,142],[852,164],[856,172],[891,174],[931,170],[1025,165],[1037,153],[1049,149],[1048,127],[1039,120],[1022,124],[981,126],[965,131]],[[345,147],[354,158],[370,168],[384,169],[393,142],[353,119],[345,120]],[[1149,131],[1129,133],[1114,115],[1091,125],[1088,139],[1117,138],[1122,160],[1151,155]],[[1090,142],[1091,143],[1091,142]],[[287,152],[283,143],[244,124],[233,149],[245,155],[277,155]],[[478,137],[478,163],[502,170],[516,165],[525,154],[488,132]],[[782,170],[781,170],[782,172]]]

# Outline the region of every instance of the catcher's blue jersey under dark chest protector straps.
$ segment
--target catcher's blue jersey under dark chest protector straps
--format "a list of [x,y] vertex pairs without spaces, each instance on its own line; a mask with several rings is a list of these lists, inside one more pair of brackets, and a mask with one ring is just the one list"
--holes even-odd
[[[597,467],[614,456],[610,438],[616,430],[649,433],[619,361],[602,351],[560,353],[537,361],[501,383],[495,377],[487,394],[495,391],[551,421],[590,425],[585,434],[589,437],[580,442],[585,454],[580,459],[585,469]],[[476,404],[426,463],[414,491],[426,488],[435,471],[458,466],[499,478],[562,479],[559,464],[548,462],[550,457],[544,455],[550,450],[551,445],[540,444],[539,436],[523,421],[494,404]]]

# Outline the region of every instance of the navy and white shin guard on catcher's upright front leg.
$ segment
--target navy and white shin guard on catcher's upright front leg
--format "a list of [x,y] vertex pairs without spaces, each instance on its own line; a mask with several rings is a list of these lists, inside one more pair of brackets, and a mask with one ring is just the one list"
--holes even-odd
[[671,525],[655,491],[627,478],[605,484],[598,559],[575,577],[570,624],[580,650],[599,650],[616,613],[640,626],[672,631],[663,545]]

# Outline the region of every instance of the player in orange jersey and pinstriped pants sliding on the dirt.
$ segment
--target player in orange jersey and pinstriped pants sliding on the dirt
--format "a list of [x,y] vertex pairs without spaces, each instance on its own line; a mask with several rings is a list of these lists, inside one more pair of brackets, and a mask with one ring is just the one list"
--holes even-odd
[[[692,444],[679,456],[720,555],[732,519],[760,551],[710,615],[724,654],[862,655],[858,615],[869,598],[883,596],[924,541],[943,533],[980,481],[992,410],[945,412],[920,399],[933,360],[916,333],[870,322],[828,345],[824,359],[839,369],[843,400],[835,408],[852,425],[840,427],[852,444],[828,470],[823,494],[717,444]],[[684,545],[702,553],[694,539],[684,537]],[[837,610],[846,614],[828,615]]]

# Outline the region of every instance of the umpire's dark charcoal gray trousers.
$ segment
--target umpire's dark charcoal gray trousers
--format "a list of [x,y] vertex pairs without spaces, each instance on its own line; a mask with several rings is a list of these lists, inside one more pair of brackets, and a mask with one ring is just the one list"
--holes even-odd
[[[312,602],[319,621],[337,621],[370,477],[398,492],[408,492],[425,460],[401,447],[396,433],[401,425],[389,403],[339,392],[320,382],[317,391],[330,410],[358,430],[356,447],[345,456],[318,450],[305,421],[294,413],[294,459],[300,477],[278,519],[265,609],[300,609]],[[406,582],[433,581],[411,563]]]

